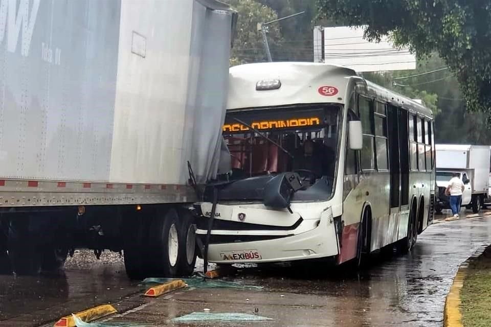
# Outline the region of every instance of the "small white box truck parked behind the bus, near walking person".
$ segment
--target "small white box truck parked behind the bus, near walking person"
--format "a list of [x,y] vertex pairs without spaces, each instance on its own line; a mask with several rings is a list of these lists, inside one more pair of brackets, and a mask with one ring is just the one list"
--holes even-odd
[[461,205],[478,213],[488,199],[490,158],[491,146],[437,144],[436,211],[441,212],[442,209],[450,207],[445,190],[453,174],[458,173],[465,186]]

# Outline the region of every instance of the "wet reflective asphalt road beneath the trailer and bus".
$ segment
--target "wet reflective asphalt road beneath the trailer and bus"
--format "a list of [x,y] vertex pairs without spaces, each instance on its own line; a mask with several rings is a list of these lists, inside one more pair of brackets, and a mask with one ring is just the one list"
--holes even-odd
[[113,321],[156,326],[188,325],[170,319],[205,308],[257,310],[273,319],[219,324],[223,326],[441,326],[444,298],[458,265],[489,243],[491,216],[441,222],[418,237],[410,254],[374,254],[358,273],[319,266],[244,268],[233,278],[263,286],[262,291],[189,289],[157,299],[139,295],[144,286],[128,281],[116,254],[105,254],[109,263],[101,260],[95,267],[92,256],[79,254],[62,275],[0,276],[0,326],[53,325],[57,317],[107,302],[120,312],[136,308]]

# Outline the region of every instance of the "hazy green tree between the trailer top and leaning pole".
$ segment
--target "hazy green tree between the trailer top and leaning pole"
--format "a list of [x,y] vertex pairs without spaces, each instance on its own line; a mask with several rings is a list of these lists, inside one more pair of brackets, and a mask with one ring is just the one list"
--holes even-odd
[[[257,24],[278,18],[276,12],[254,0],[226,0],[238,14],[237,35],[231,53],[230,65],[266,61],[262,36],[257,31]],[[280,26],[269,26],[267,40],[272,52],[281,44]]]

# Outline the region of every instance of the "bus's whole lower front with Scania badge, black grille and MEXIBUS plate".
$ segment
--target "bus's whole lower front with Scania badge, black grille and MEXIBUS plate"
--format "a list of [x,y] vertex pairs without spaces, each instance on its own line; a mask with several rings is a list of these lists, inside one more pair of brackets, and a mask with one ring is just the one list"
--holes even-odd
[[[294,212],[268,209],[250,209],[248,223],[231,221],[223,215],[224,207],[217,212],[211,230],[208,261],[221,264],[267,263],[318,259],[339,253],[336,227],[328,208],[320,219],[302,219]],[[225,208],[233,211],[238,206]],[[244,211],[243,208],[240,209]],[[232,217],[232,212],[230,213]],[[206,214],[205,214],[206,215]],[[257,224],[255,217],[262,221],[275,221],[275,225]],[[283,217],[281,217],[283,216]],[[224,219],[225,218],[225,219]],[[271,219],[270,219],[271,218]],[[197,237],[205,239],[208,218],[198,219]]]

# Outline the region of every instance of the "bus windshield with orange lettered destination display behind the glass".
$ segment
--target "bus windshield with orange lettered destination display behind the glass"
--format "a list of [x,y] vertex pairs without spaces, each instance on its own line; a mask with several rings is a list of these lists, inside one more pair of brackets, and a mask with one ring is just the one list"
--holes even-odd
[[339,105],[229,111],[223,127],[232,179],[297,172],[308,185],[334,178]]

